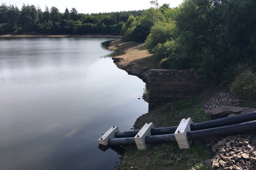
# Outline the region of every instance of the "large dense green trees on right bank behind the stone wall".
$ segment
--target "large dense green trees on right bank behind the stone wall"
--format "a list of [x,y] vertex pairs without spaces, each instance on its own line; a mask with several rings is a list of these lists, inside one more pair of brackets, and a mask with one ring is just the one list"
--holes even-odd
[[255,9],[253,0],[184,0],[178,8],[161,6],[164,19],[151,27],[146,47],[162,59],[161,68],[196,69],[198,78],[212,83],[234,81],[256,63]]

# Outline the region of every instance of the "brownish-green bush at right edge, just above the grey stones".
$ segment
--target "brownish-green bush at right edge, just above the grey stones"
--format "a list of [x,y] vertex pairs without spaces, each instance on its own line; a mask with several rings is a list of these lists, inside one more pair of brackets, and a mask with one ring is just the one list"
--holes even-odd
[[255,69],[247,69],[242,72],[230,87],[230,91],[248,99],[256,99],[256,72]]

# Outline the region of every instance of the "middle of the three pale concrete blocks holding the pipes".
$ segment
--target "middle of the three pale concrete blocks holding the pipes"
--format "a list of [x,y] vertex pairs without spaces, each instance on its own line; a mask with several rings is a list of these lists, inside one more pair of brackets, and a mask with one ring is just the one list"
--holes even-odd
[[155,128],[154,124],[146,123],[141,130],[137,133],[137,135],[134,137],[134,141],[137,145],[137,148],[140,150],[147,150],[149,145],[145,142],[146,136],[151,136],[151,129]]

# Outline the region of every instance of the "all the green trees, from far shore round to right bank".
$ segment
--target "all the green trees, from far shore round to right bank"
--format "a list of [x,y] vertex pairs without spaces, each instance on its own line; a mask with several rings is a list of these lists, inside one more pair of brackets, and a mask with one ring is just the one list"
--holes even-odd
[[60,13],[1,4],[0,34],[112,34],[145,42],[159,69],[193,69],[198,79],[256,98],[256,1],[184,0],[141,11]]

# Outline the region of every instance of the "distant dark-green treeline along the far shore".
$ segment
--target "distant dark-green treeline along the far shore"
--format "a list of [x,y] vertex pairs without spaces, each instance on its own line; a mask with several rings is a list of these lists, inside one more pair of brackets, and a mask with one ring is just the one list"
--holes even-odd
[[64,13],[52,6],[23,4],[21,9],[12,4],[0,6],[0,34],[111,34],[120,35],[123,24],[130,15],[140,16],[140,11],[82,14],[73,7]]

